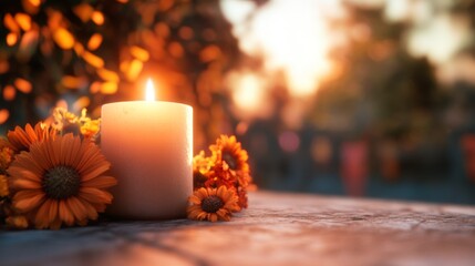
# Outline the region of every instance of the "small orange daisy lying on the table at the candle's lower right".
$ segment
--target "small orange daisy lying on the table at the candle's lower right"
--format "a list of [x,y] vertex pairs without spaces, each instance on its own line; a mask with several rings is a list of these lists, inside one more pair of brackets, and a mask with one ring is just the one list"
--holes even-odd
[[198,221],[229,221],[231,213],[239,211],[238,197],[234,190],[202,187],[188,198],[188,218]]

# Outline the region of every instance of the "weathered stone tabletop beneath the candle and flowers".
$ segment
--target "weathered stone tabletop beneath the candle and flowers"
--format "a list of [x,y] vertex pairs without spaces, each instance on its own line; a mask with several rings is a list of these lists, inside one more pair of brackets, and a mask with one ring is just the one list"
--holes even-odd
[[475,207],[256,192],[229,223],[0,232],[0,265],[475,265]]

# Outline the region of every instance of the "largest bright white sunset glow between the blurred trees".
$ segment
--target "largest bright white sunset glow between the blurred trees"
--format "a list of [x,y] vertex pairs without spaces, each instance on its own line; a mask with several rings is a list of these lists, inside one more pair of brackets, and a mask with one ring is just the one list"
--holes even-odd
[[[291,95],[307,96],[318,90],[319,80],[330,71],[332,34],[324,16],[335,14],[335,3],[270,1],[254,13],[247,30],[235,24],[235,34],[245,53],[264,59],[266,72],[283,73]],[[233,22],[240,21],[234,6],[240,7],[241,17],[249,14],[248,4],[224,1],[224,12]]]

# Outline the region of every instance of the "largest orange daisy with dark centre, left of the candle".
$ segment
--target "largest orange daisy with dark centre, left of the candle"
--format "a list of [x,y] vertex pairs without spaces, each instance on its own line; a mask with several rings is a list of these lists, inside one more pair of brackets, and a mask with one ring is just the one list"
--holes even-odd
[[34,142],[8,170],[12,206],[38,228],[85,225],[112,201],[105,188],[116,180],[102,175],[109,167],[89,140],[65,134]]

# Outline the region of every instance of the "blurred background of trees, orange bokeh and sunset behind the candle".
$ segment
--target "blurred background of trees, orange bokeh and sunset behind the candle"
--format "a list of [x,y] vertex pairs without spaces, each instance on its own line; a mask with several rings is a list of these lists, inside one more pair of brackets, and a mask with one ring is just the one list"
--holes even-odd
[[157,98],[265,190],[475,204],[474,0],[2,0],[0,134]]

